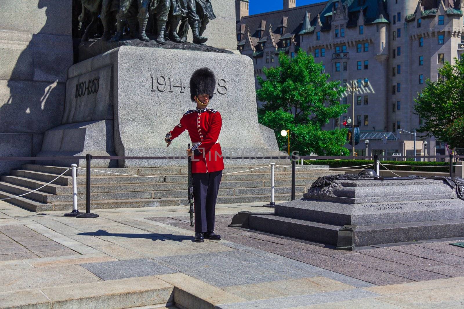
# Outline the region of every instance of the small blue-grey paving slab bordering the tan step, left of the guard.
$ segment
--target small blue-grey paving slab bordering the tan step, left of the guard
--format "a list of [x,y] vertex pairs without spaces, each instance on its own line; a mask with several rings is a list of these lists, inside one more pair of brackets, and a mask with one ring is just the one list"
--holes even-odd
[[131,277],[145,277],[177,272],[173,268],[152,259],[131,259],[124,261],[81,264],[103,280],[115,280]]

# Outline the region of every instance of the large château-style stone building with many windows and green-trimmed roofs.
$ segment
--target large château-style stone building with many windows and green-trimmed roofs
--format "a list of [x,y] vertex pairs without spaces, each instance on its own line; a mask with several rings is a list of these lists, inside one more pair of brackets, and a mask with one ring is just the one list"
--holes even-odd
[[[325,129],[351,118],[361,130],[358,155],[365,155],[366,139],[369,154],[413,154],[412,134],[399,129],[414,132],[420,126],[414,98],[427,78],[440,78],[444,61],[464,52],[464,1],[329,0],[296,6],[284,0],[283,10],[256,15],[248,15],[248,5],[236,0],[237,45],[253,59],[256,76],[278,64],[278,53],[292,57],[301,48],[332,79],[358,86],[354,100],[349,91],[341,99],[350,104],[348,113]],[[418,154],[447,153],[443,143],[427,141],[424,147],[418,140]]]

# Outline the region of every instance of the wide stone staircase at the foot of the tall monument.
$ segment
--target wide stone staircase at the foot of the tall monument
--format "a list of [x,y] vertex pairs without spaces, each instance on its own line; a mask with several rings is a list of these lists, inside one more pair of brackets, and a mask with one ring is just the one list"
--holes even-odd
[[[319,176],[333,174],[329,166],[311,166],[315,169],[296,170],[295,197],[302,198],[309,186]],[[230,166],[224,173],[249,170],[256,166]],[[187,168],[95,168],[130,176],[114,175],[99,171],[91,172],[91,208],[132,208],[187,205]],[[23,164],[2,176],[0,198],[21,195],[52,181],[66,170],[65,167],[39,164]],[[270,202],[271,168],[223,175],[218,195],[218,204]],[[77,169],[77,201],[79,210],[85,210],[85,174]],[[139,176],[166,176],[160,178]],[[291,194],[291,168],[275,167],[275,201],[289,201]],[[71,170],[52,184],[22,197],[6,200],[35,212],[72,210]]]

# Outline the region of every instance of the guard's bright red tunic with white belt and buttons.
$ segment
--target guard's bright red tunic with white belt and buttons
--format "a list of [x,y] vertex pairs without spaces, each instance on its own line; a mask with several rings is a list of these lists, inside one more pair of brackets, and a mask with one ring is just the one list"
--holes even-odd
[[168,141],[175,139],[180,133],[188,130],[192,140],[192,173],[210,173],[224,170],[219,132],[222,119],[218,111],[211,108],[187,111],[180,123],[166,134]]

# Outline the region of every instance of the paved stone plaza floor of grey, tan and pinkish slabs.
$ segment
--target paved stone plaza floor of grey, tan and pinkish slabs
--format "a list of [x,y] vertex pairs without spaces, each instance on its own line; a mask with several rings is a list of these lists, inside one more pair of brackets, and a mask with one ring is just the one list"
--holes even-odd
[[464,238],[349,252],[228,227],[261,204],[218,205],[223,240],[195,243],[187,207],[78,219],[0,202],[0,308],[464,307],[464,248],[448,244]]

